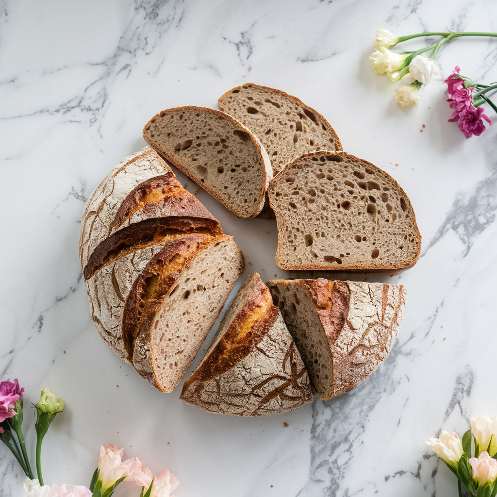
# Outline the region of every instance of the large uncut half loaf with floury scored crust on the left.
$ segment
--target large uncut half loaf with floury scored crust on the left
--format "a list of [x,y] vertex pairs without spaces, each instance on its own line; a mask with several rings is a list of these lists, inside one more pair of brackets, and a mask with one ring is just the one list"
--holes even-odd
[[164,392],[182,379],[245,269],[232,237],[150,147],[88,199],[80,258],[103,341]]

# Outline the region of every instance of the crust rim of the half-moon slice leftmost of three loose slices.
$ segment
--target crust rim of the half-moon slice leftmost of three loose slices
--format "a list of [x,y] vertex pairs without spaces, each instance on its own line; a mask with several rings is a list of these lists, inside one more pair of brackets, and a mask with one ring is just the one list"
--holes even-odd
[[[193,173],[192,170],[187,169],[185,166],[181,164],[181,161],[178,160],[178,156],[176,154],[171,154],[167,153],[164,150],[161,150],[158,145],[155,143],[155,141],[152,139],[153,137],[149,136],[148,131],[150,130],[150,127],[154,124],[154,122],[157,119],[161,119],[164,117],[167,113],[173,113],[173,112],[181,112],[183,110],[190,109],[190,110],[197,110],[197,111],[202,111],[202,112],[207,112],[210,113],[214,116],[219,116],[224,119],[227,119],[230,121],[235,127],[237,127],[240,131],[243,131],[244,133],[247,133],[248,136],[250,137],[251,143],[255,147],[257,153],[259,154],[262,163],[263,163],[263,187],[261,188],[260,193],[258,194],[258,199],[257,202],[254,204],[254,208],[252,211],[250,211],[248,214],[242,214],[242,211],[239,210],[238,213],[233,210],[233,207],[230,205],[227,205],[226,201],[224,200],[223,196],[213,187],[210,187],[206,185],[204,182],[201,181],[200,176],[197,174]],[[218,202],[223,204],[227,209],[231,210],[234,212],[238,217],[255,217],[263,208],[264,206],[264,195],[267,190],[267,187],[269,186],[269,182],[271,181],[273,177],[273,170],[271,167],[271,161],[269,160],[269,157],[260,143],[260,140],[246,127],[244,126],[241,122],[237,121],[234,117],[230,116],[229,114],[226,114],[225,112],[221,112],[219,110],[215,109],[210,109],[207,107],[197,107],[194,105],[187,105],[184,107],[174,107],[171,109],[166,109],[158,114],[156,114],[143,128],[143,138],[145,141],[153,148],[156,149],[157,153],[163,157],[166,161],[170,162],[173,166],[177,167],[179,170],[184,172],[187,176],[189,176],[193,181],[195,181],[199,186],[201,186],[205,191],[207,191],[210,195],[212,195]]]

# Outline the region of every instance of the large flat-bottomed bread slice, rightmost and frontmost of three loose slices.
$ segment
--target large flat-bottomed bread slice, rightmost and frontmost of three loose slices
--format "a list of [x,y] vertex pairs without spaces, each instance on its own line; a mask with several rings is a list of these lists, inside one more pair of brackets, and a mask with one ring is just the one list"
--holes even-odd
[[281,269],[398,269],[419,256],[421,236],[404,190],[379,167],[345,152],[296,159],[268,195]]

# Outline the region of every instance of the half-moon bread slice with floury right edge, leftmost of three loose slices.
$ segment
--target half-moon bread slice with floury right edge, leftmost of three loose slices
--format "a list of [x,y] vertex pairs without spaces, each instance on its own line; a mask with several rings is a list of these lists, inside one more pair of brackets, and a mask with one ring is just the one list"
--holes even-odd
[[238,217],[254,217],[272,179],[266,151],[236,119],[204,107],[177,107],[154,116],[145,141]]

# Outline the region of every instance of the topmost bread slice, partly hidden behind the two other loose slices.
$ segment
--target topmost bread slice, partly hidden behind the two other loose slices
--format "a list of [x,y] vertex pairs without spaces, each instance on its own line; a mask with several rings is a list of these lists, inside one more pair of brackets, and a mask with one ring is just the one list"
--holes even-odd
[[274,176],[301,155],[342,149],[330,123],[319,112],[283,91],[246,83],[227,91],[218,106],[260,139]]

